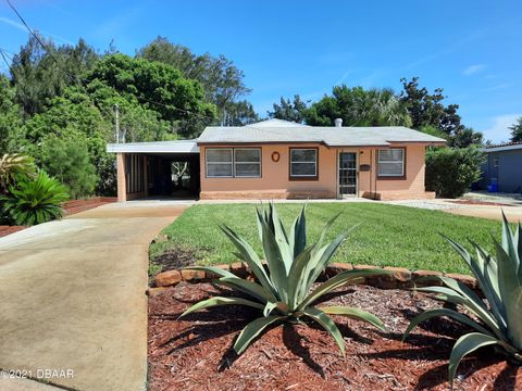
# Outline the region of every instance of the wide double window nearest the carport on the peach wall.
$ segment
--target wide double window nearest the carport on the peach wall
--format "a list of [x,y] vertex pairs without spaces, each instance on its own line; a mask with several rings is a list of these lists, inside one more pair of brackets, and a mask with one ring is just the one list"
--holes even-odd
[[207,177],[261,177],[261,148],[208,148]]

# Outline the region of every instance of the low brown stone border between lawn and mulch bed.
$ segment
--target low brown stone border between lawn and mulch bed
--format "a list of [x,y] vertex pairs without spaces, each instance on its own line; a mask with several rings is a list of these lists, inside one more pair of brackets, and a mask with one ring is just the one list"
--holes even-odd
[[[219,267],[225,270],[229,270],[241,278],[253,278],[252,274],[250,273],[247,264],[245,262],[236,262],[229,265],[217,265],[214,267]],[[358,278],[353,283],[361,283],[361,285],[369,285],[376,288],[382,289],[408,289],[413,287],[426,287],[433,285],[439,285],[438,282],[430,279],[430,277],[439,277],[446,276],[449,278],[453,278],[469,288],[480,291],[476,279],[461,274],[453,274],[453,273],[440,273],[434,270],[409,270],[403,267],[393,267],[393,266],[371,266],[371,265],[351,265],[351,264],[344,264],[344,263],[332,263],[330,264],[322,276],[318,279],[319,281],[324,280],[326,278],[332,278],[339,273],[347,272],[347,270],[361,270],[361,269],[370,269],[370,268],[377,268],[383,270],[391,272],[391,274],[382,275],[382,276],[372,276],[372,277],[361,277]],[[212,279],[215,279],[217,276],[206,273],[202,270],[187,270],[187,269],[179,269],[179,270],[166,270],[158,274],[154,278],[156,287],[149,288],[147,291],[148,294],[152,294],[154,292],[162,291],[169,287],[174,287],[182,281],[186,282],[208,282]]]

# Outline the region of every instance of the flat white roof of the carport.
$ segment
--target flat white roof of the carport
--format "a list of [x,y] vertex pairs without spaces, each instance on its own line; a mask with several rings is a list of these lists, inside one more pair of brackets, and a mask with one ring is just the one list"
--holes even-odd
[[199,153],[197,140],[124,142],[107,144],[107,152],[122,153]]

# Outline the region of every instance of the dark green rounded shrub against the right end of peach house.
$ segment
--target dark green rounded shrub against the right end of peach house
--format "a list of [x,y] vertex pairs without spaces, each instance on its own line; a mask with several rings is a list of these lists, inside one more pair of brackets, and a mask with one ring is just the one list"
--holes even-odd
[[476,148],[442,148],[426,152],[426,189],[437,197],[457,198],[481,178],[484,153]]

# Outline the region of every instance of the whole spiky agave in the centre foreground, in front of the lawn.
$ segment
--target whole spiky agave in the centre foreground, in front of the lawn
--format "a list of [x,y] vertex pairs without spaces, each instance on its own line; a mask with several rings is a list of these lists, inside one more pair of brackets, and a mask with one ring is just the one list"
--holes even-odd
[[358,308],[314,306],[321,297],[350,280],[384,274],[384,272],[382,269],[349,270],[340,273],[312,289],[332,256],[346,240],[349,231],[343,232],[332,242],[323,244],[327,229],[338,217],[336,215],[326,224],[319,240],[307,245],[304,211],[306,206],[295,219],[290,231],[287,232],[274,204],[271,203],[268,209],[257,210],[259,238],[266,260],[265,264],[245,239],[232,228],[222,226],[221,229],[237,249],[236,255],[248,264],[259,282],[241,279],[216,267],[194,266],[189,268],[217,275],[220,277],[216,280],[217,283],[246,293],[251,300],[214,297],[192,305],[181,317],[217,305],[239,304],[259,310],[263,316],[248,324],[234,344],[237,354],[241,354],[249,343],[270,325],[281,321],[296,323],[306,317],[322,326],[334,338],[343,354],[345,353],[343,336],[327,314],[361,319],[384,329],[383,323],[377,317]]

